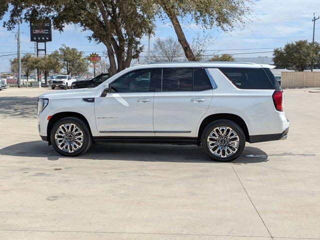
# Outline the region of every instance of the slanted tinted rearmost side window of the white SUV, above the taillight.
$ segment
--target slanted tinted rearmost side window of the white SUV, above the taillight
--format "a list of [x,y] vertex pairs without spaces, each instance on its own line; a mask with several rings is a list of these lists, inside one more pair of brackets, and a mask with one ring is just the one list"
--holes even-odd
[[[240,89],[275,89],[263,68],[219,68]],[[270,70],[270,69],[269,69]],[[270,71],[271,72],[271,71]],[[272,74],[272,72],[271,72]]]

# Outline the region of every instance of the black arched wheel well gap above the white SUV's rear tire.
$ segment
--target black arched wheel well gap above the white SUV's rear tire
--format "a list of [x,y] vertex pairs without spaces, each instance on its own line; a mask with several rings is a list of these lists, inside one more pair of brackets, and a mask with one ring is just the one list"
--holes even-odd
[[211,115],[206,116],[202,120],[202,122],[199,126],[198,138],[201,139],[202,132],[206,128],[207,125],[209,125],[212,121],[221,120],[221,119],[230,120],[230,121],[233,121],[234,123],[238,124],[241,127],[241,129],[243,130],[243,133],[245,135],[245,140],[247,142],[249,142],[250,136],[249,136],[248,126],[247,126],[246,122],[242,119],[242,117],[240,117],[236,114],[232,114],[232,113],[215,113],[215,114],[211,114]]

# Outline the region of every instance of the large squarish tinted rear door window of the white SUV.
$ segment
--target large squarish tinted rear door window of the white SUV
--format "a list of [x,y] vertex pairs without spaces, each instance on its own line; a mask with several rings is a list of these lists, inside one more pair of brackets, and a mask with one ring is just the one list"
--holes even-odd
[[192,91],[192,67],[162,68],[162,91]]

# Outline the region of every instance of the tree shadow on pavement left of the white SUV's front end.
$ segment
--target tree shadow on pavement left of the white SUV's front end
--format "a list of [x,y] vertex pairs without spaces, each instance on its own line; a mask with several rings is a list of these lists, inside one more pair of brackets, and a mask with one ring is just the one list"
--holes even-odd
[[37,98],[27,96],[1,96],[2,117],[37,117]]

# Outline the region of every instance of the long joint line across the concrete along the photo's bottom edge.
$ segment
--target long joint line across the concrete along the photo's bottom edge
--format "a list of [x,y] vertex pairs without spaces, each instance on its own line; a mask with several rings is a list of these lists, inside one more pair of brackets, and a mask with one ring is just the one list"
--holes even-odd
[[[268,237],[271,236],[247,236],[247,235],[223,235],[223,234],[194,234],[194,233],[167,233],[167,232],[121,232],[121,231],[72,231],[72,230],[23,230],[0,229],[0,231],[36,231],[36,232],[79,232],[79,233],[109,233],[109,234],[152,234],[152,235],[186,235],[186,236],[232,236],[232,237]],[[303,239],[303,238],[302,238]],[[316,239],[316,238],[314,238]]]

